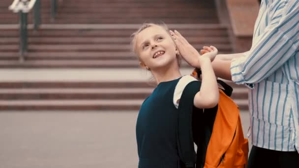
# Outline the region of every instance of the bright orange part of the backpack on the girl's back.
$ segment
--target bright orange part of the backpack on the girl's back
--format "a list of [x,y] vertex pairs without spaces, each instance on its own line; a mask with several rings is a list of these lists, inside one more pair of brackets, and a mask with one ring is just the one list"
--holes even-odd
[[243,135],[239,108],[220,90],[204,168],[244,168],[247,158],[248,140]]

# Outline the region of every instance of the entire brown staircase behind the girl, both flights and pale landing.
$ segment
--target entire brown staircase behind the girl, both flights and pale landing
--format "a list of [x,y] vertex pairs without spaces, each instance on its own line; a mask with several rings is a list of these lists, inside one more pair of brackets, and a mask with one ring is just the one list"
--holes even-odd
[[[220,53],[232,52],[228,30],[209,0],[63,0],[54,21],[50,0],[43,0],[42,25],[36,32],[29,26],[28,54],[21,63],[18,18],[8,11],[10,3],[0,1],[0,72],[5,74],[0,110],[138,110],[154,88],[145,76],[134,75],[140,69],[130,52],[129,37],[144,22],[163,21],[197,49],[214,45]],[[192,71],[185,62],[182,69]],[[82,80],[89,74],[81,70],[92,75]],[[233,98],[246,110],[247,89],[232,85]]]

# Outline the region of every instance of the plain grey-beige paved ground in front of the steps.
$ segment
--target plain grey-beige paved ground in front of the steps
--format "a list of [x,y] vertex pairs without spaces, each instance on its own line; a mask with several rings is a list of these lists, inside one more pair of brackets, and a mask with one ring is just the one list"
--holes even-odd
[[137,114],[0,112],[0,168],[137,168]]

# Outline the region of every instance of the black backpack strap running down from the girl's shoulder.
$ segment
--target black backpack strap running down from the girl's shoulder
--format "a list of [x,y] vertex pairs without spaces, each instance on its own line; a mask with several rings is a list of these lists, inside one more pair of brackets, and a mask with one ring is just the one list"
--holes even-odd
[[[186,89],[189,88],[189,89]],[[196,153],[192,135],[192,112],[194,96],[199,91],[198,81],[187,84],[179,101],[178,149],[179,157],[186,168],[195,168]],[[190,91],[197,90],[197,91]]]

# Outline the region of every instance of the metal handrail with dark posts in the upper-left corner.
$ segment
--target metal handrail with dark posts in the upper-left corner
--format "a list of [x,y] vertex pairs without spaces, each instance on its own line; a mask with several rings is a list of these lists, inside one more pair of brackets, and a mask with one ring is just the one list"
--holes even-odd
[[19,13],[20,23],[20,61],[25,60],[24,55],[27,54],[27,15],[28,12],[34,7],[34,29],[37,30],[40,24],[40,0],[14,0],[8,7],[14,13]]

